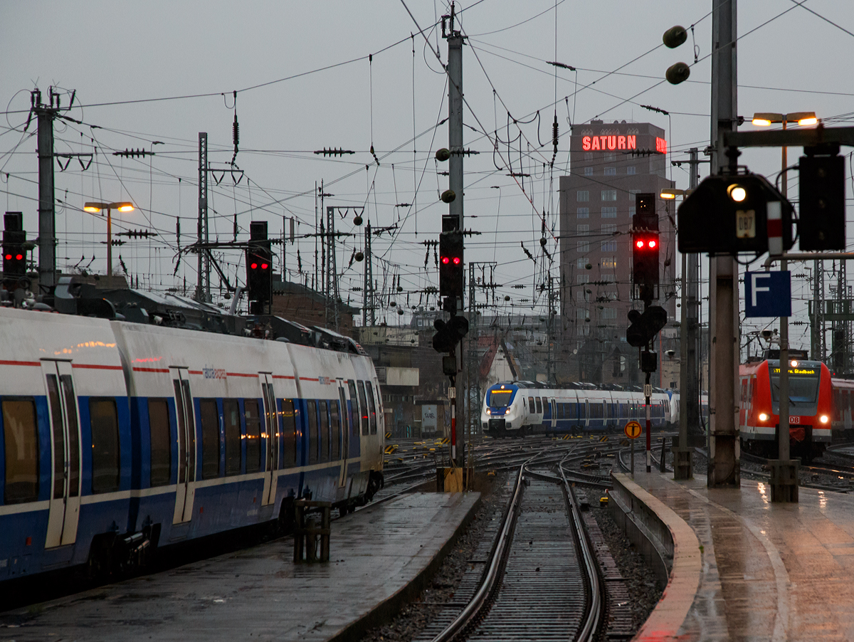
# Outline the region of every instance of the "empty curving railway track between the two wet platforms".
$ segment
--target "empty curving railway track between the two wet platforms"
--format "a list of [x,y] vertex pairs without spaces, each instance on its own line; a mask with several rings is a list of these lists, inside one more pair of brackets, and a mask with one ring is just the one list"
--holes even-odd
[[603,614],[594,551],[568,481],[534,470],[551,464],[543,459],[554,453],[543,454],[519,466],[494,545],[484,539],[419,642],[594,639]]

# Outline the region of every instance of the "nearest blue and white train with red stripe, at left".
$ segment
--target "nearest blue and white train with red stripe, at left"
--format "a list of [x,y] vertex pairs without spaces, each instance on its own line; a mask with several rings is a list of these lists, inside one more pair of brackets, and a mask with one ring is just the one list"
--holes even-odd
[[384,432],[364,353],[0,309],[0,581],[347,512]]

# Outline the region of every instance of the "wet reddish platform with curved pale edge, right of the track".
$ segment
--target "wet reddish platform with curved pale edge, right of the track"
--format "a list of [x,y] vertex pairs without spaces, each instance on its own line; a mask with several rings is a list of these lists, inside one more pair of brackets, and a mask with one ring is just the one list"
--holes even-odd
[[[672,535],[664,597],[635,640],[854,639],[854,497],[799,489],[772,504],[762,481],[709,489],[705,477],[614,475],[616,505]],[[665,537],[664,540],[667,540]]]

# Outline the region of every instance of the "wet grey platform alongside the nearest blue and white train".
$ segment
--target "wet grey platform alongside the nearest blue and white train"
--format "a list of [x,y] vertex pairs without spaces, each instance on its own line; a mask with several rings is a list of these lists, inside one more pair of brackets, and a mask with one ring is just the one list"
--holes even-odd
[[479,493],[412,493],[332,523],[329,563],[293,539],[0,614],[0,640],[358,639],[429,580]]

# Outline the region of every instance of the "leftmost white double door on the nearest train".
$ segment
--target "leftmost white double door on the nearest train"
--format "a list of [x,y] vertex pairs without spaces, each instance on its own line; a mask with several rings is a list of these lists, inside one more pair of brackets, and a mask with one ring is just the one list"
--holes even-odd
[[50,512],[45,548],[77,540],[80,512],[80,429],[77,395],[68,361],[42,361],[50,406],[52,469]]

